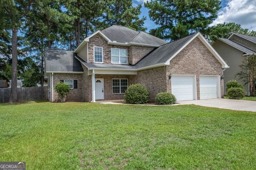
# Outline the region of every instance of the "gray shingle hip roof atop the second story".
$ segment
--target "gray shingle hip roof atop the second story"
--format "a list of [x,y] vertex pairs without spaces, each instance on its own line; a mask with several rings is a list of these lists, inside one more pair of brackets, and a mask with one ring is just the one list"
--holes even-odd
[[151,36],[146,32],[137,32],[130,28],[126,28],[119,25],[112,25],[101,31],[105,36],[107,36],[111,41],[116,41],[117,43],[141,43],[149,45],[161,46],[167,42],[163,39]]

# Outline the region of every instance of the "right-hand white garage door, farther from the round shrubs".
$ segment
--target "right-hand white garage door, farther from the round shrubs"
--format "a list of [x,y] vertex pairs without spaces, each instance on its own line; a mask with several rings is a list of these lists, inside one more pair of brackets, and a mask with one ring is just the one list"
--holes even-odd
[[200,99],[213,99],[219,97],[220,81],[218,76],[200,76]]

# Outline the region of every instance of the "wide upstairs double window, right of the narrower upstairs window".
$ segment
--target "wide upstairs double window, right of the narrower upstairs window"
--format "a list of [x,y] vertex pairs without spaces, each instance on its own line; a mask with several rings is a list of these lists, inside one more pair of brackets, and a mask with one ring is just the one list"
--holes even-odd
[[127,49],[111,48],[111,62],[114,64],[127,64]]

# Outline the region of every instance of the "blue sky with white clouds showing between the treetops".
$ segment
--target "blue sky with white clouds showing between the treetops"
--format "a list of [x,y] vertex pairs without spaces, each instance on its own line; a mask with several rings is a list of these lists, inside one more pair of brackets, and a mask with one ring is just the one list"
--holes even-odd
[[[146,16],[144,26],[147,32],[150,29],[157,28],[157,25],[149,19],[148,8],[143,3],[147,0],[133,0],[133,6],[142,4],[140,17]],[[149,0],[150,1],[150,0]],[[236,22],[243,28],[256,30],[256,0],[222,0],[221,9],[218,12],[218,18],[210,25],[216,25],[224,22]]]

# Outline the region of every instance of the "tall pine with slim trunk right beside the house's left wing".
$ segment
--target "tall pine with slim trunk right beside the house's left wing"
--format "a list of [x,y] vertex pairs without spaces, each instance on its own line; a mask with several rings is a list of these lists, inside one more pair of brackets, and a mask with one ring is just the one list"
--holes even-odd
[[44,50],[52,48],[60,40],[60,30],[66,28],[69,16],[62,11],[60,0],[34,0],[27,13],[23,33],[26,45],[30,50],[30,57],[38,61],[41,71],[41,85],[44,84]]

